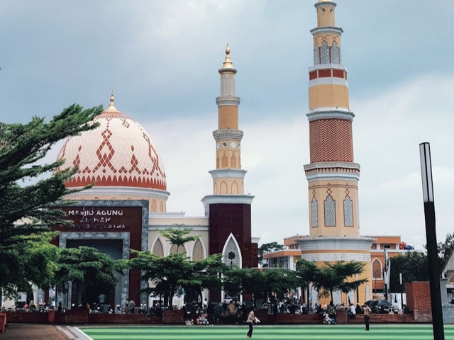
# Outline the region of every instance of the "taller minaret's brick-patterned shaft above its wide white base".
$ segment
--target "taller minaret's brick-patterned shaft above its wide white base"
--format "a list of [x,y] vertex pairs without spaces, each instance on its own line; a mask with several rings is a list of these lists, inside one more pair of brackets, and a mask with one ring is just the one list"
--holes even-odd
[[342,28],[335,26],[333,1],[319,1],[314,35],[314,66],[309,68],[310,235],[360,235],[358,181],[353,162],[352,122],[347,70],[341,64]]

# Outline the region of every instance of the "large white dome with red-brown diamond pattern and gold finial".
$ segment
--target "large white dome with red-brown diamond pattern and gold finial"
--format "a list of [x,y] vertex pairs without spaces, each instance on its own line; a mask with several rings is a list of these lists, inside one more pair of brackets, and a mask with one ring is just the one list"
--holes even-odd
[[166,190],[164,164],[147,132],[135,120],[115,108],[114,94],[109,108],[94,118],[99,127],[69,137],[57,160],[60,169],[77,166],[79,171],[66,183],[68,188],[128,186]]

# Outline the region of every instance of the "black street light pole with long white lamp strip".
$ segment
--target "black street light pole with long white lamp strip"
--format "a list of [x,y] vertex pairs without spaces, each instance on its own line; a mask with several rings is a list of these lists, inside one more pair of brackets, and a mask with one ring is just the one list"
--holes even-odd
[[423,183],[424,217],[426,220],[428,277],[431,286],[433,339],[444,340],[443,310],[441,306],[440,270],[438,268],[438,248],[435,229],[435,204],[433,202],[431,146],[419,145],[421,157],[421,179]]

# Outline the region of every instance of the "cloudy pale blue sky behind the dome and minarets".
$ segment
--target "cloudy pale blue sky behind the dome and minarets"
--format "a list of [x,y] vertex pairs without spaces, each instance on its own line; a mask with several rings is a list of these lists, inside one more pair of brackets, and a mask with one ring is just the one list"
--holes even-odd
[[[315,0],[0,0],[0,120],[109,104],[143,125],[168,212],[204,215],[226,44],[238,69],[245,193],[260,244],[309,234],[308,67]],[[362,235],[426,244],[419,143],[431,143],[436,233],[454,232],[454,2],[338,0]],[[59,145],[50,152],[57,157]]]

